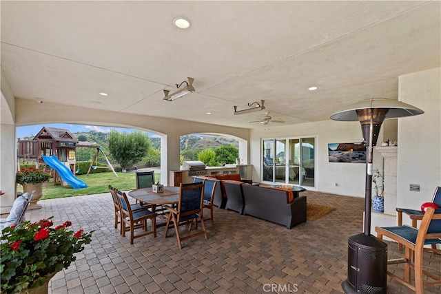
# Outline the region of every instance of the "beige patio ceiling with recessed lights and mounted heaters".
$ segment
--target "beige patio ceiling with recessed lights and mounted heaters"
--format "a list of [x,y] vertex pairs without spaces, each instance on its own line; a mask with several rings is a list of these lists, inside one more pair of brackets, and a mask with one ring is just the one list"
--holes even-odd
[[[15,97],[43,103],[246,128],[263,127],[249,122],[266,111],[315,122],[365,98],[397,99],[398,76],[440,67],[440,6],[1,1],[1,68]],[[192,26],[175,28],[176,17]],[[187,76],[196,92],[163,101]],[[260,99],[265,110],[234,116]]]

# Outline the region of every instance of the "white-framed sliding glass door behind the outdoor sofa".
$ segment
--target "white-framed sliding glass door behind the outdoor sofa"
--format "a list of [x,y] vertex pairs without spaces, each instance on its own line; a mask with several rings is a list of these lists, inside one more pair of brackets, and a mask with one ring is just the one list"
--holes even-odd
[[315,138],[265,139],[262,181],[315,187]]

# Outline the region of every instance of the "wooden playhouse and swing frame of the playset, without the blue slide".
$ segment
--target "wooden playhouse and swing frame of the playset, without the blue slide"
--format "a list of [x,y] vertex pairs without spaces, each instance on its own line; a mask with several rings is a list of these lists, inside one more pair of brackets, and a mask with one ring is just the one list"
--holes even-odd
[[[43,127],[32,140],[19,140],[17,157],[18,160],[35,160],[37,167],[39,167],[39,165],[45,165],[41,156],[57,156],[58,160],[68,166],[71,169],[72,174],[75,175],[77,172],[76,148],[96,148],[96,154],[88,170],[88,175],[90,169],[98,168],[94,166],[94,163],[101,152],[107,162],[107,166],[99,168],[112,169],[115,176],[118,177],[101,147],[97,146],[95,143],[79,142],[68,129]],[[18,165],[18,167],[19,166],[20,165]],[[54,171],[54,185],[56,185],[58,178],[59,176],[57,172]]]

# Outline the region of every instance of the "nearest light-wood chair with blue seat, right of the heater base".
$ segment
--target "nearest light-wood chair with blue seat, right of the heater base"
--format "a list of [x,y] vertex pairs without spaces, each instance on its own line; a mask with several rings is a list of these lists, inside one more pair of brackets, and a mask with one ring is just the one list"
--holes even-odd
[[[417,294],[424,293],[424,287],[441,283],[439,272],[437,275],[423,269],[423,252],[441,252],[441,249],[424,248],[424,245],[441,244],[441,213],[435,213],[429,207],[422,217],[420,228],[408,225],[398,227],[376,227],[378,238],[390,238],[404,246],[405,257],[398,260],[388,260],[388,264],[404,263],[404,277],[387,271],[387,275],[407,286]],[[414,258],[412,258],[414,255]],[[415,282],[411,282],[411,269],[414,270]],[[424,279],[423,276],[430,279]]]

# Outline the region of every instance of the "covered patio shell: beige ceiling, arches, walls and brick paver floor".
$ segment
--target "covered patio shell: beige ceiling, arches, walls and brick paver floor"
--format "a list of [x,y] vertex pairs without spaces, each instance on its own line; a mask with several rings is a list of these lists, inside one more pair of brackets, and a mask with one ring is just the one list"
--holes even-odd
[[[23,125],[153,132],[161,136],[163,185],[180,167],[185,134],[240,140],[239,157],[252,165],[254,182],[264,180],[265,140],[314,138],[314,187],[305,195],[336,210],[291,230],[216,209],[208,240],[194,238],[179,250],[160,229],[156,239],[130,245],[113,227],[109,194],[42,200],[43,208],[27,218],[69,218],[96,230],[84,254],[52,279],[53,293],[271,292],[265,285],[285,286],[279,293],[294,292],[293,285],[298,293],[341,293],[347,237],[363,227],[366,167],[329,162],[329,144],[358,143],[362,135],[359,123],[329,117],[373,97],[423,109],[414,118],[387,120],[378,143],[398,142],[396,179],[385,185],[389,208],[419,209],[431,200],[441,182],[440,5],[1,1],[0,213],[17,196],[16,127]],[[192,21],[188,30],[173,24],[181,16]],[[178,84],[189,77],[194,92],[164,101],[165,92],[180,92]],[[265,101],[265,111],[235,115],[236,107],[247,110],[255,101]],[[260,124],[267,112],[285,123]],[[374,153],[373,168],[390,169]],[[378,219],[396,223],[395,213]],[[402,256],[389,245],[389,258]],[[424,258],[440,271],[440,255]],[[388,286],[389,293],[411,293],[396,282]]]

